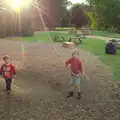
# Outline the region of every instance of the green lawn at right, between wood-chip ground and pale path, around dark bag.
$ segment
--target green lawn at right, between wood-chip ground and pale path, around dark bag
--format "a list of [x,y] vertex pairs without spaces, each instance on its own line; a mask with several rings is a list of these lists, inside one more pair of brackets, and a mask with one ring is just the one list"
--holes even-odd
[[107,55],[104,53],[105,41],[86,39],[80,48],[83,48],[94,55],[99,56],[100,61],[107,65],[113,72],[113,80],[120,80],[120,51],[117,55]]

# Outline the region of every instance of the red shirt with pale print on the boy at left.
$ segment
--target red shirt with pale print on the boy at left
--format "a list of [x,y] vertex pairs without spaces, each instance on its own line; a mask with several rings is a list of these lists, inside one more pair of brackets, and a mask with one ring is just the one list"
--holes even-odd
[[0,71],[5,79],[12,78],[13,74],[16,74],[16,70],[13,64],[3,64]]

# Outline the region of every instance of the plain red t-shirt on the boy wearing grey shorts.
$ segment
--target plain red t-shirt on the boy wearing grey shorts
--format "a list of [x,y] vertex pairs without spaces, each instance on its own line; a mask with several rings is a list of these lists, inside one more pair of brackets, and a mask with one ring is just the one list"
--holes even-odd
[[70,69],[75,74],[83,72],[82,61],[80,59],[70,58],[65,64],[66,66],[70,64]]

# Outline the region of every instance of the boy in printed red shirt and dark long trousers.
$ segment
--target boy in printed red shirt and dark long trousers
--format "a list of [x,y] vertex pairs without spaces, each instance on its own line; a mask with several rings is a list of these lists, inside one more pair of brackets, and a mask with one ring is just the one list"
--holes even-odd
[[5,55],[3,60],[5,63],[1,66],[0,72],[2,77],[5,79],[6,91],[10,94],[12,78],[13,76],[16,76],[16,69],[14,65],[10,63],[10,57],[8,55]]

